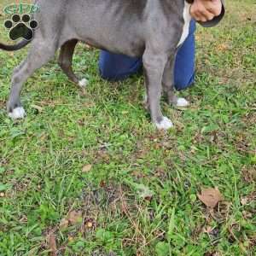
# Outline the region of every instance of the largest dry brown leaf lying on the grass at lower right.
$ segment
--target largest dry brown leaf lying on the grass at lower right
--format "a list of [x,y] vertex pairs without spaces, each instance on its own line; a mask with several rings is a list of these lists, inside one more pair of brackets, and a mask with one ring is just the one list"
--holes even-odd
[[218,205],[219,201],[223,200],[218,188],[215,189],[202,189],[201,195],[197,194],[198,198],[207,206],[214,208]]

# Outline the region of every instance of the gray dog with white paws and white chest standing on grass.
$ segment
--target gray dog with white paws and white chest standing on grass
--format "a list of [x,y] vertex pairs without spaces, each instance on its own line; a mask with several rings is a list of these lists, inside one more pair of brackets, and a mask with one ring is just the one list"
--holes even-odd
[[[172,121],[160,108],[162,90],[167,100],[179,107],[189,102],[173,94],[173,65],[178,47],[189,34],[190,4],[193,0],[38,0],[40,12],[34,16],[34,32],[27,58],[15,68],[7,104],[13,119],[25,117],[20,91],[32,73],[49,62],[61,48],[60,65],[69,79],[79,86],[72,70],[73,51],[79,41],[99,49],[133,57],[143,56],[147,103],[153,123],[168,130]],[[21,49],[30,41],[16,45],[0,44],[0,49]]]

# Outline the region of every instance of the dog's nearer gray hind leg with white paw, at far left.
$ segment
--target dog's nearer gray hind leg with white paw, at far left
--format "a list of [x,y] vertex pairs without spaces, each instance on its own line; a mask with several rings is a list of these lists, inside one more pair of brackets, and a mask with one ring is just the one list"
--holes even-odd
[[42,67],[55,55],[55,44],[52,42],[34,40],[28,53],[27,59],[15,69],[12,78],[7,111],[12,119],[23,119],[26,116],[24,108],[20,104],[20,92],[22,85],[32,73]]

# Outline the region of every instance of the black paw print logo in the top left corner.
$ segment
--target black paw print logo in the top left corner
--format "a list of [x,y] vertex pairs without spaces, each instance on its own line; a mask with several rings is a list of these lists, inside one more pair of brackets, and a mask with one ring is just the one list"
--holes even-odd
[[38,27],[37,20],[31,20],[30,15],[13,15],[11,20],[6,20],[4,26],[9,29],[9,38],[16,40],[18,38],[24,38],[30,41],[35,30]]

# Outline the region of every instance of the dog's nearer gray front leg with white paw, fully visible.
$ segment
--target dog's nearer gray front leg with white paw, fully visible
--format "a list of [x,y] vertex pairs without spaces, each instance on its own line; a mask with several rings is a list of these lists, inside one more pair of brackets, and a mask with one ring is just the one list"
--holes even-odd
[[161,82],[166,67],[166,55],[155,55],[148,50],[143,55],[143,66],[145,70],[148,107],[151,113],[151,119],[160,130],[168,130],[172,121],[163,116],[160,109]]

